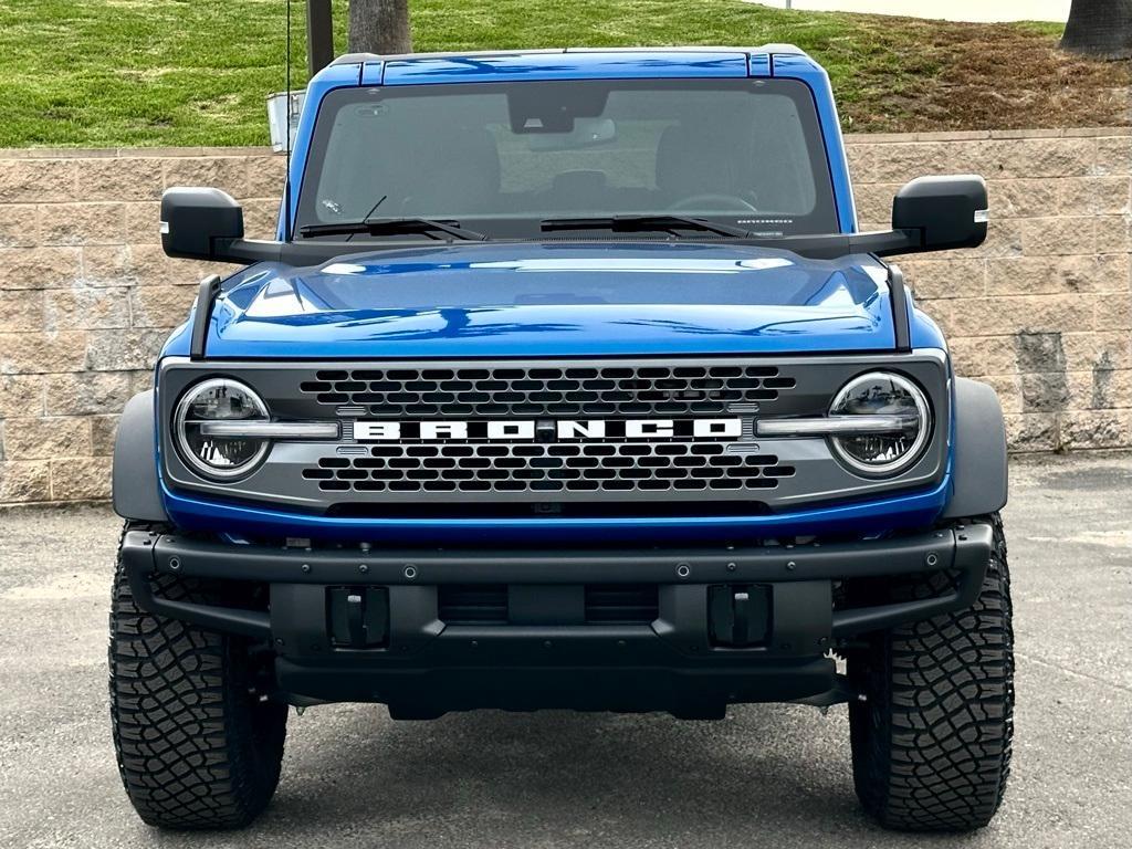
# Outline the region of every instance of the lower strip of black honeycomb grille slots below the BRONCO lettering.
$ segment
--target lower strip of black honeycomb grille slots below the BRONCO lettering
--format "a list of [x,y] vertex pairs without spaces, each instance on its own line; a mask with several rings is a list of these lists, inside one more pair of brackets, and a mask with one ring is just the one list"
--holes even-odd
[[722,443],[378,445],[323,457],[302,477],[324,492],[765,491],[794,466]]

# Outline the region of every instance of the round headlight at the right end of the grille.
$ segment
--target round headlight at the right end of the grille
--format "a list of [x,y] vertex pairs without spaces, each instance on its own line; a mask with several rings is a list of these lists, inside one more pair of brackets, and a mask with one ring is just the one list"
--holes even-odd
[[891,429],[831,437],[834,452],[854,471],[890,475],[915,463],[932,435],[932,413],[924,393],[891,371],[855,377],[833,398],[830,415],[884,415]]

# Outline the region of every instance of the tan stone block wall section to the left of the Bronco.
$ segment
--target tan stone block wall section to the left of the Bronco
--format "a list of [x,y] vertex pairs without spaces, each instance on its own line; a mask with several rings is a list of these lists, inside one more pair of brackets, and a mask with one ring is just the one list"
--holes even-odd
[[0,507],[109,497],[119,412],[231,272],[165,257],[162,191],[223,188],[271,238],[283,173],[269,149],[0,151]]

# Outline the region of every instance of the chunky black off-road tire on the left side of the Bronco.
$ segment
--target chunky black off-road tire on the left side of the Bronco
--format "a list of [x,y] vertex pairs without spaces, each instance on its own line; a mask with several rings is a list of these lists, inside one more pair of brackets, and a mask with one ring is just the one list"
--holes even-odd
[[[140,525],[127,523],[126,530]],[[204,582],[153,578],[158,595],[216,600]],[[110,614],[110,712],[135,809],[166,829],[238,829],[278,783],[286,705],[261,701],[248,641],[144,612],[121,556]]]

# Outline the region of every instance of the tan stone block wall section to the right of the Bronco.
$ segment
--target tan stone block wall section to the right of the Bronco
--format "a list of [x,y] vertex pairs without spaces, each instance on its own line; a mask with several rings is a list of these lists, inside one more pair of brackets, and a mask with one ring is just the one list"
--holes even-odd
[[959,374],[992,384],[1015,452],[1132,446],[1132,135],[1035,130],[849,139],[864,229],[933,173],[987,178],[975,251],[898,259]]

